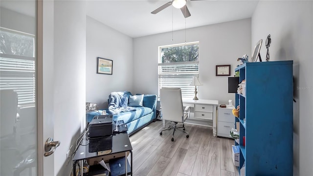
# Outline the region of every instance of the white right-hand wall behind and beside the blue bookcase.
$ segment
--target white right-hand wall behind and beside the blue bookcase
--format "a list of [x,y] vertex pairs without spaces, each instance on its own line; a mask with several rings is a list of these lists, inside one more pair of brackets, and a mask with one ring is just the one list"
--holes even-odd
[[[313,1],[260,1],[251,20],[251,46],[270,34],[269,61],[293,60],[293,164],[295,176],[313,173]],[[265,107],[266,109],[266,107]]]

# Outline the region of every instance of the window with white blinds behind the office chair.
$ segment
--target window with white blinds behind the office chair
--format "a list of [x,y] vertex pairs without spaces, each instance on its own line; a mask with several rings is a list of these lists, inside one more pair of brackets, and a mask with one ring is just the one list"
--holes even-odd
[[195,87],[189,85],[199,76],[199,42],[159,46],[158,63],[158,90],[181,88],[183,98],[194,97]]

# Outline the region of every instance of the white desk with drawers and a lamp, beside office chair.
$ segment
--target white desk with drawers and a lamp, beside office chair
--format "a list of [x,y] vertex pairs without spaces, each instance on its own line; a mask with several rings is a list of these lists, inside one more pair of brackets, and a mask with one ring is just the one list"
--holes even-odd
[[[213,136],[216,136],[216,110],[219,105],[218,100],[182,99],[182,104],[184,107],[191,107],[190,117],[185,121],[186,124],[212,127]],[[165,120],[163,120],[163,127],[165,128]]]

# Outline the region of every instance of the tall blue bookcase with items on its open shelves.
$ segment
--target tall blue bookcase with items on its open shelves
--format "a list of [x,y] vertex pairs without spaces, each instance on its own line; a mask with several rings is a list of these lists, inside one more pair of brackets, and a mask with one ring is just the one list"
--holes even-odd
[[[240,105],[240,168],[246,176],[292,176],[293,61],[245,63],[238,66],[246,92]],[[236,123],[235,123],[236,124]],[[244,146],[244,136],[245,146]]]

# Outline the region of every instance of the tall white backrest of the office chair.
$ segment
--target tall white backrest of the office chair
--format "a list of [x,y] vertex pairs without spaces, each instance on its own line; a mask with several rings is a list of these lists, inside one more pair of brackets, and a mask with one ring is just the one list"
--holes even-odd
[[180,88],[161,88],[160,101],[162,119],[172,122],[183,122],[184,110]]

